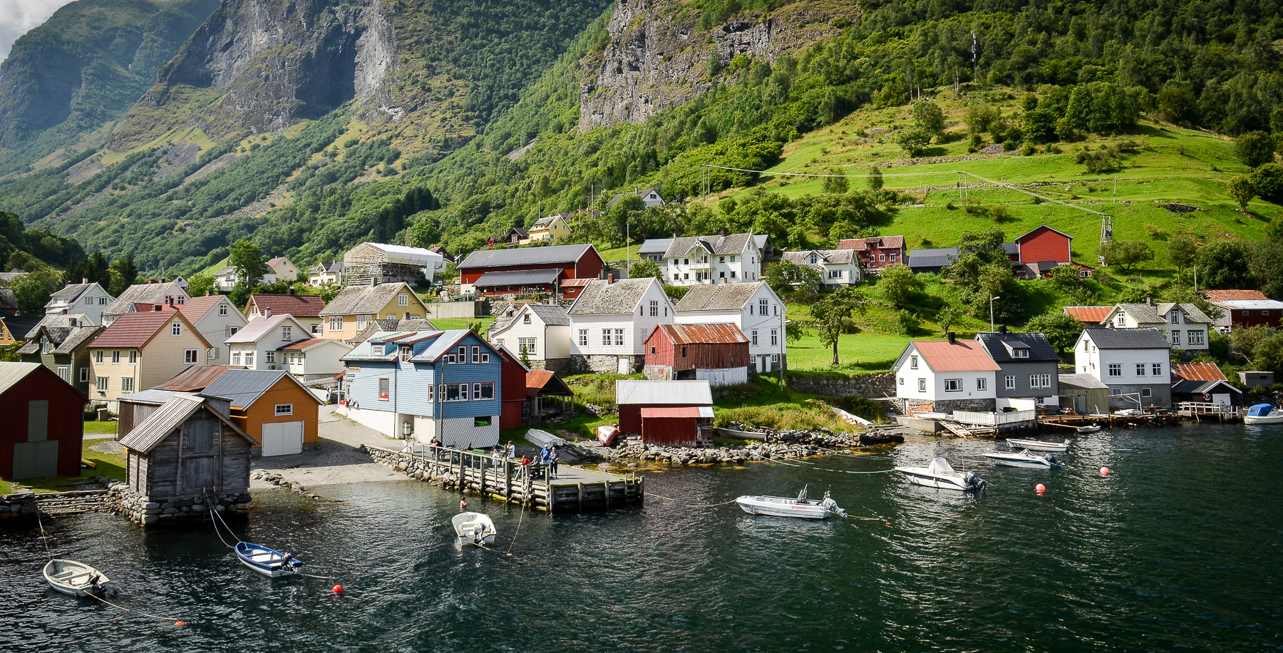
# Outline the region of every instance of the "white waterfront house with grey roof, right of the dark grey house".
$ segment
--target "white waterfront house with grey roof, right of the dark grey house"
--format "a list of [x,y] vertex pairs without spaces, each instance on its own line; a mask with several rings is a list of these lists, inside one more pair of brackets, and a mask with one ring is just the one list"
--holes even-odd
[[1153,327],[1084,328],[1074,371],[1110,387],[1110,409],[1171,408],[1171,344]]

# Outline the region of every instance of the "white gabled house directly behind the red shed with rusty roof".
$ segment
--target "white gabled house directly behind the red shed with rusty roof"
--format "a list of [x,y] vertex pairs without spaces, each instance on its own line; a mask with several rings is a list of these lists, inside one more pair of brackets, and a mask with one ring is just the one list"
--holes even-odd
[[765,281],[693,286],[677,301],[679,325],[735,325],[758,373],[788,369],[784,300]]

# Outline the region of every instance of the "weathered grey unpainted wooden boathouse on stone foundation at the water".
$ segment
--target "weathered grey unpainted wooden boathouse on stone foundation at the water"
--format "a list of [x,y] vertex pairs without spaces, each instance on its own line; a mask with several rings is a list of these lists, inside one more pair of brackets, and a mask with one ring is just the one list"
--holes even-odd
[[174,395],[121,439],[130,488],[186,498],[249,489],[254,440],[227,417],[226,400]]

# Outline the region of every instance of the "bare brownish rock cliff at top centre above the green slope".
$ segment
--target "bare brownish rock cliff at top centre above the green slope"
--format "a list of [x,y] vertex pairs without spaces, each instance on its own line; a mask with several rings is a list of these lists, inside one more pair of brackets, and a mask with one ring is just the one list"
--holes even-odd
[[618,0],[607,28],[611,42],[582,60],[579,128],[640,123],[681,106],[711,89],[718,78],[713,71],[735,56],[774,63],[795,54],[840,32],[837,24],[857,19],[860,5],[794,3],[769,14],[738,14],[709,31],[697,27],[699,15],[671,0]]

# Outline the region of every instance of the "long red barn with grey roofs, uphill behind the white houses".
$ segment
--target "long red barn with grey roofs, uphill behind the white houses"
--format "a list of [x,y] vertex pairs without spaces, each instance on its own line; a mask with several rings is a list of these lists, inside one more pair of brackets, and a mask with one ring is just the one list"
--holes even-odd
[[591,244],[484,249],[458,264],[459,285],[463,293],[556,294],[567,280],[598,278],[603,264]]

